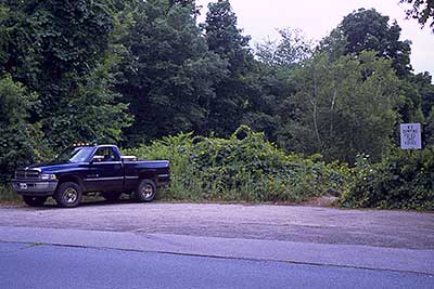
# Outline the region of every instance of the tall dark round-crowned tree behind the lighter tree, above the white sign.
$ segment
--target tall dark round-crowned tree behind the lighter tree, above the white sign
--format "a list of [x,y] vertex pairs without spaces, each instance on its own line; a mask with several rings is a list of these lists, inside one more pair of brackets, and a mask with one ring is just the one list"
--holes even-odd
[[319,51],[327,51],[336,60],[340,55],[371,50],[378,56],[391,60],[397,76],[404,81],[400,89],[405,97],[398,108],[400,120],[422,121],[422,96],[411,80],[411,42],[401,41],[399,37],[400,27],[396,22],[390,24],[390,18],[374,9],[359,9],[344,17],[337,28],[321,42]]

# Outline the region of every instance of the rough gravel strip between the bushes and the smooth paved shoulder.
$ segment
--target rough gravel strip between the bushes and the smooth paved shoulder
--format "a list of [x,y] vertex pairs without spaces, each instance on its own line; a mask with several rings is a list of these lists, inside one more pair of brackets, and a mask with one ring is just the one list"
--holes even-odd
[[434,249],[434,213],[268,205],[84,203],[0,207],[0,226],[162,233]]

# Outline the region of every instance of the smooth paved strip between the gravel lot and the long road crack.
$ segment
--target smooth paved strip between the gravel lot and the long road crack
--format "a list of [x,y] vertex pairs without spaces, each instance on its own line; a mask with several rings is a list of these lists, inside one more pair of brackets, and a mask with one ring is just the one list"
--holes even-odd
[[0,226],[0,241],[289,262],[434,276],[434,250],[10,226]]

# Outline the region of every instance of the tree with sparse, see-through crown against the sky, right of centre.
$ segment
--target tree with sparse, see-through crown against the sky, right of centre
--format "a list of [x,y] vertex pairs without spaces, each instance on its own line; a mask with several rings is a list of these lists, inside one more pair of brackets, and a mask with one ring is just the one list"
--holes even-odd
[[292,75],[312,54],[312,41],[298,29],[279,29],[281,39],[266,41],[256,47],[255,65],[248,74],[253,89],[242,122],[255,131],[265,132],[268,140],[276,142],[282,119],[294,114],[294,105],[288,97],[295,93]]

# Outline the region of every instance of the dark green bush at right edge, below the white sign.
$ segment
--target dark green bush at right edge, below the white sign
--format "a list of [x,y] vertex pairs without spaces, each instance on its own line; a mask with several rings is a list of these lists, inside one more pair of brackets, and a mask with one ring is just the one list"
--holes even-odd
[[350,208],[434,209],[434,147],[394,148],[379,163],[359,156],[341,203]]

